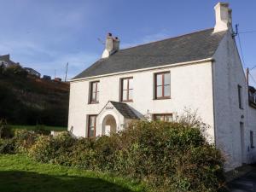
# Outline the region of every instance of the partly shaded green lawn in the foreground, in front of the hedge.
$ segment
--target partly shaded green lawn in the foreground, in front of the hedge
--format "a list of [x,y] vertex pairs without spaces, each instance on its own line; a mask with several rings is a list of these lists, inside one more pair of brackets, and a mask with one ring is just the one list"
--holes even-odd
[[143,184],[112,174],[41,164],[21,154],[0,155],[1,192],[133,192]]

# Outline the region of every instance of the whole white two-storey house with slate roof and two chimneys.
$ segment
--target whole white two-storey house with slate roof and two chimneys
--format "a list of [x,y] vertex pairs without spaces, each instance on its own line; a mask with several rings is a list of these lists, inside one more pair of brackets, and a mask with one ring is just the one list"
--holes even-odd
[[228,155],[227,169],[255,161],[256,102],[249,100],[231,9],[214,9],[214,28],[128,49],[109,33],[102,58],[71,80],[68,129],[96,137],[131,119],[169,121],[191,108],[210,125],[209,143]]

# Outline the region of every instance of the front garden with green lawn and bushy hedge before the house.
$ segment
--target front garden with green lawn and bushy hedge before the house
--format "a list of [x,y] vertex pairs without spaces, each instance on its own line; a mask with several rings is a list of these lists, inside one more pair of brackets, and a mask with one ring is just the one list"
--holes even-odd
[[134,121],[96,138],[2,125],[0,191],[193,191],[224,189],[224,157],[200,121]]

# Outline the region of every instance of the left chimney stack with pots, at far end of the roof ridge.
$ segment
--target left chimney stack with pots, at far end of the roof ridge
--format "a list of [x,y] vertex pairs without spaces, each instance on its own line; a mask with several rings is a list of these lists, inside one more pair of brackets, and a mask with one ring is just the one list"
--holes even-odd
[[102,58],[108,58],[117,52],[119,50],[119,42],[119,38],[113,38],[112,33],[108,32]]

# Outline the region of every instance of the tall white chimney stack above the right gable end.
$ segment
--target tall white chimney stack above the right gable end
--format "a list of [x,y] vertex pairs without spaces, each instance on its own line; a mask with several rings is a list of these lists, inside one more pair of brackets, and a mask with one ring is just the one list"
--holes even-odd
[[218,3],[214,9],[216,20],[214,32],[232,30],[232,9],[229,9],[229,3]]

